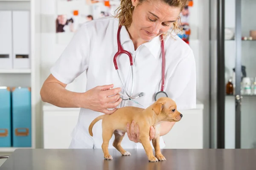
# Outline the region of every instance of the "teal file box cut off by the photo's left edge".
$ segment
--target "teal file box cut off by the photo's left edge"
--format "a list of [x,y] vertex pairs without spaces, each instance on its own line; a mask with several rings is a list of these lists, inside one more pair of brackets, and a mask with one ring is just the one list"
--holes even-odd
[[0,87],[0,147],[12,146],[11,91]]

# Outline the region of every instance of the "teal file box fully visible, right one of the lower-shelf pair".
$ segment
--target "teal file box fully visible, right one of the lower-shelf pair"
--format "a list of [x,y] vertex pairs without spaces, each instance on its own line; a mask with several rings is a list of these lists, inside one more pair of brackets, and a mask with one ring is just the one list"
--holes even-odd
[[31,147],[31,91],[12,89],[12,145]]

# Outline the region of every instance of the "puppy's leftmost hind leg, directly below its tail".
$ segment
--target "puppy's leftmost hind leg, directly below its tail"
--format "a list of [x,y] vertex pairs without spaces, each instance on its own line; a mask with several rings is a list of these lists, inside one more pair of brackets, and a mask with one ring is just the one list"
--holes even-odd
[[109,141],[110,141],[112,136],[113,136],[113,131],[112,130],[109,130],[107,128],[102,128],[102,139],[103,139],[102,150],[103,150],[103,153],[104,153],[104,158],[108,159],[108,160],[113,159],[112,156],[108,152],[108,144],[109,144]]

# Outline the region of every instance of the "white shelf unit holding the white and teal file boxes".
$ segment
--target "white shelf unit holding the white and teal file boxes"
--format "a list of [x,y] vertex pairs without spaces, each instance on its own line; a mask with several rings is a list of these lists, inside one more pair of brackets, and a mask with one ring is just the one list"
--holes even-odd
[[34,149],[41,147],[41,97],[40,91],[40,36],[36,36],[40,20],[40,2],[38,0],[0,0],[0,10],[29,11],[29,69],[0,69],[0,86],[31,88],[31,147],[0,147],[0,153],[13,152],[16,149]]

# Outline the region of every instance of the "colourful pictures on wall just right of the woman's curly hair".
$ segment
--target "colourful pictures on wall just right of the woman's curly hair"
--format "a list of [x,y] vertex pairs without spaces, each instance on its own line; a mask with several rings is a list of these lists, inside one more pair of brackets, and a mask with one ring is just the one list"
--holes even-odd
[[188,5],[185,6],[181,11],[180,21],[178,22],[180,24],[180,28],[182,29],[182,32],[179,33],[178,36],[187,44],[189,44],[189,36],[191,34],[191,30],[189,26],[189,8],[191,8],[192,6],[193,6],[193,0],[189,0]]

